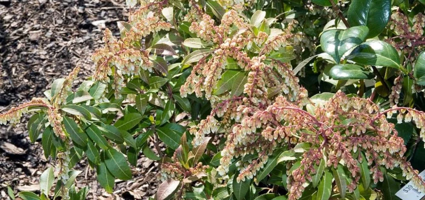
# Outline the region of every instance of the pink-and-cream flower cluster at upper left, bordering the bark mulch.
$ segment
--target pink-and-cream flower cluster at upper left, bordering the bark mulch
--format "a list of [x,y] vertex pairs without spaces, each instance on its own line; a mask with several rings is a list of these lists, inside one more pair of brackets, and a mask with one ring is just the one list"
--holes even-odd
[[121,96],[120,90],[124,82],[124,75],[130,77],[139,75],[140,70],[152,71],[153,63],[149,60],[150,50],[141,49],[140,44],[137,43],[152,32],[169,30],[171,24],[160,18],[158,15],[160,11],[159,13],[151,12],[153,9],[162,8],[165,2],[154,1],[142,5],[128,17],[128,23],[121,22],[123,27],[120,39],[116,39],[109,29],[105,29],[102,39],[105,46],[97,49],[91,56],[96,64],[93,79],[108,83],[112,76],[112,89],[115,97]]

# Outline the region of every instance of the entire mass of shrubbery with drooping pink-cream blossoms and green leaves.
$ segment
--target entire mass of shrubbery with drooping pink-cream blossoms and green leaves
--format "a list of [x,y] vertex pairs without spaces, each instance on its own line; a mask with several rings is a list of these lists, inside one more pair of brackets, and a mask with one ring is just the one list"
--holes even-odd
[[47,199],[56,170],[53,198],[84,199],[72,168],[85,157],[112,192],[139,154],[160,163],[156,199],[425,191],[421,2],[127,0],[141,5],[120,38],[104,31],[88,80],[72,85],[76,67],[0,114],[33,114],[29,138],[56,162],[40,195],[19,196]]

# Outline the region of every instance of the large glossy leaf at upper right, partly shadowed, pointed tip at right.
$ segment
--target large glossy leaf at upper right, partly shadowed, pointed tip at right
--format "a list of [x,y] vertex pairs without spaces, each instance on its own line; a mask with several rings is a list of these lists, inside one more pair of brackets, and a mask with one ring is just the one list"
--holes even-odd
[[360,64],[388,66],[401,69],[400,57],[397,50],[380,40],[366,41],[355,47],[347,59]]

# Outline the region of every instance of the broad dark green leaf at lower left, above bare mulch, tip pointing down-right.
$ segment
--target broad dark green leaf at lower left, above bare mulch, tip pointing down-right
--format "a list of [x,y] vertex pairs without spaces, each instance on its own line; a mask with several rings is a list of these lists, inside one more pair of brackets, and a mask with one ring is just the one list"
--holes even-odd
[[122,153],[113,148],[105,150],[105,163],[110,173],[121,180],[131,179],[131,169]]

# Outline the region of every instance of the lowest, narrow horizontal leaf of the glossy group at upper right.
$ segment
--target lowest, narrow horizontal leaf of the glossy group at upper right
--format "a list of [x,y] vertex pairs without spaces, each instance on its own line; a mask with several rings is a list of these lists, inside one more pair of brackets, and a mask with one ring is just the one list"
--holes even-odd
[[337,64],[329,70],[329,75],[335,80],[371,79],[375,75],[357,64]]

